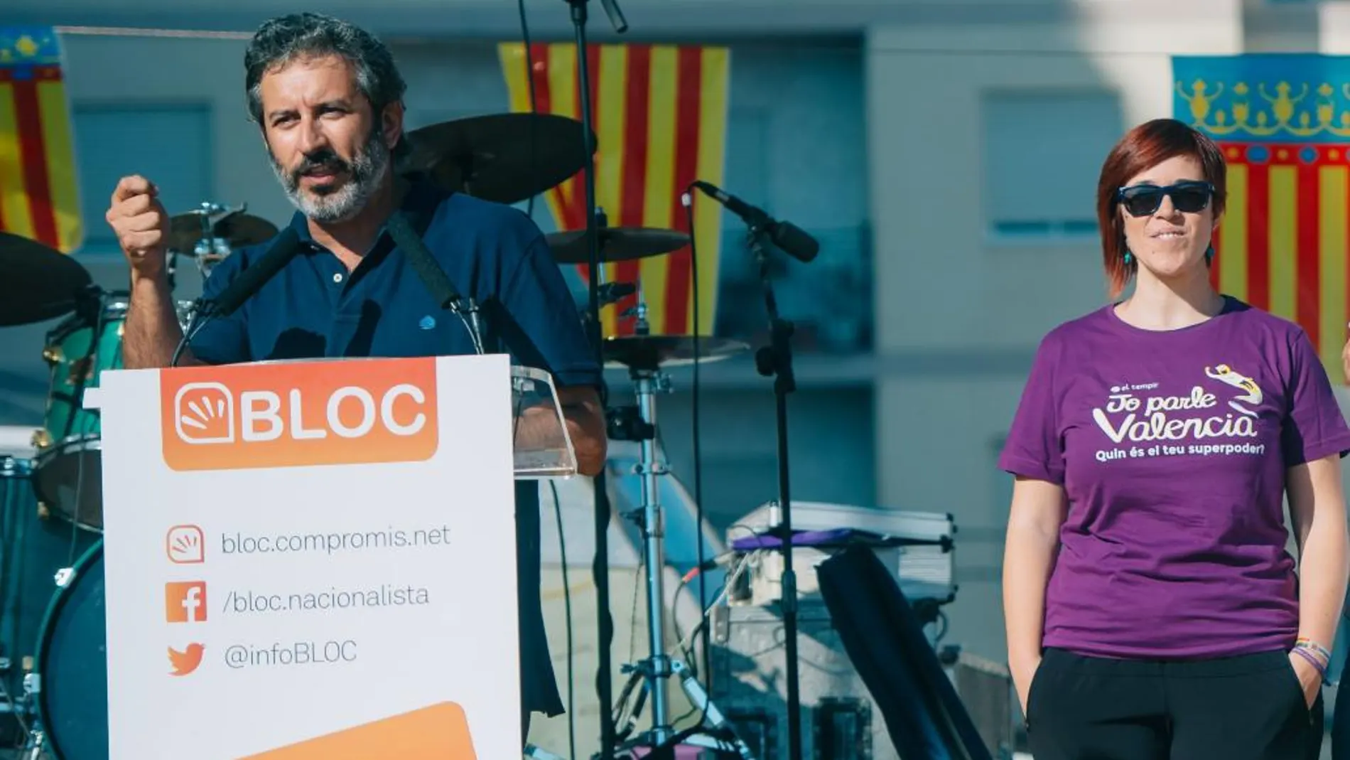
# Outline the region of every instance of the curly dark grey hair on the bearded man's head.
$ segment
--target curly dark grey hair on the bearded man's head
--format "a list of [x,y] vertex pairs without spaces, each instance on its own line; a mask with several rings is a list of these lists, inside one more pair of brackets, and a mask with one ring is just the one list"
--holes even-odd
[[[323,13],[290,13],[258,27],[244,53],[244,89],[252,120],[263,126],[263,74],[296,59],[325,55],[340,55],[351,62],[356,86],[370,101],[377,124],[386,105],[404,99],[408,85],[394,57],[373,34]],[[405,148],[405,143],[398,140],[398,147]]]

